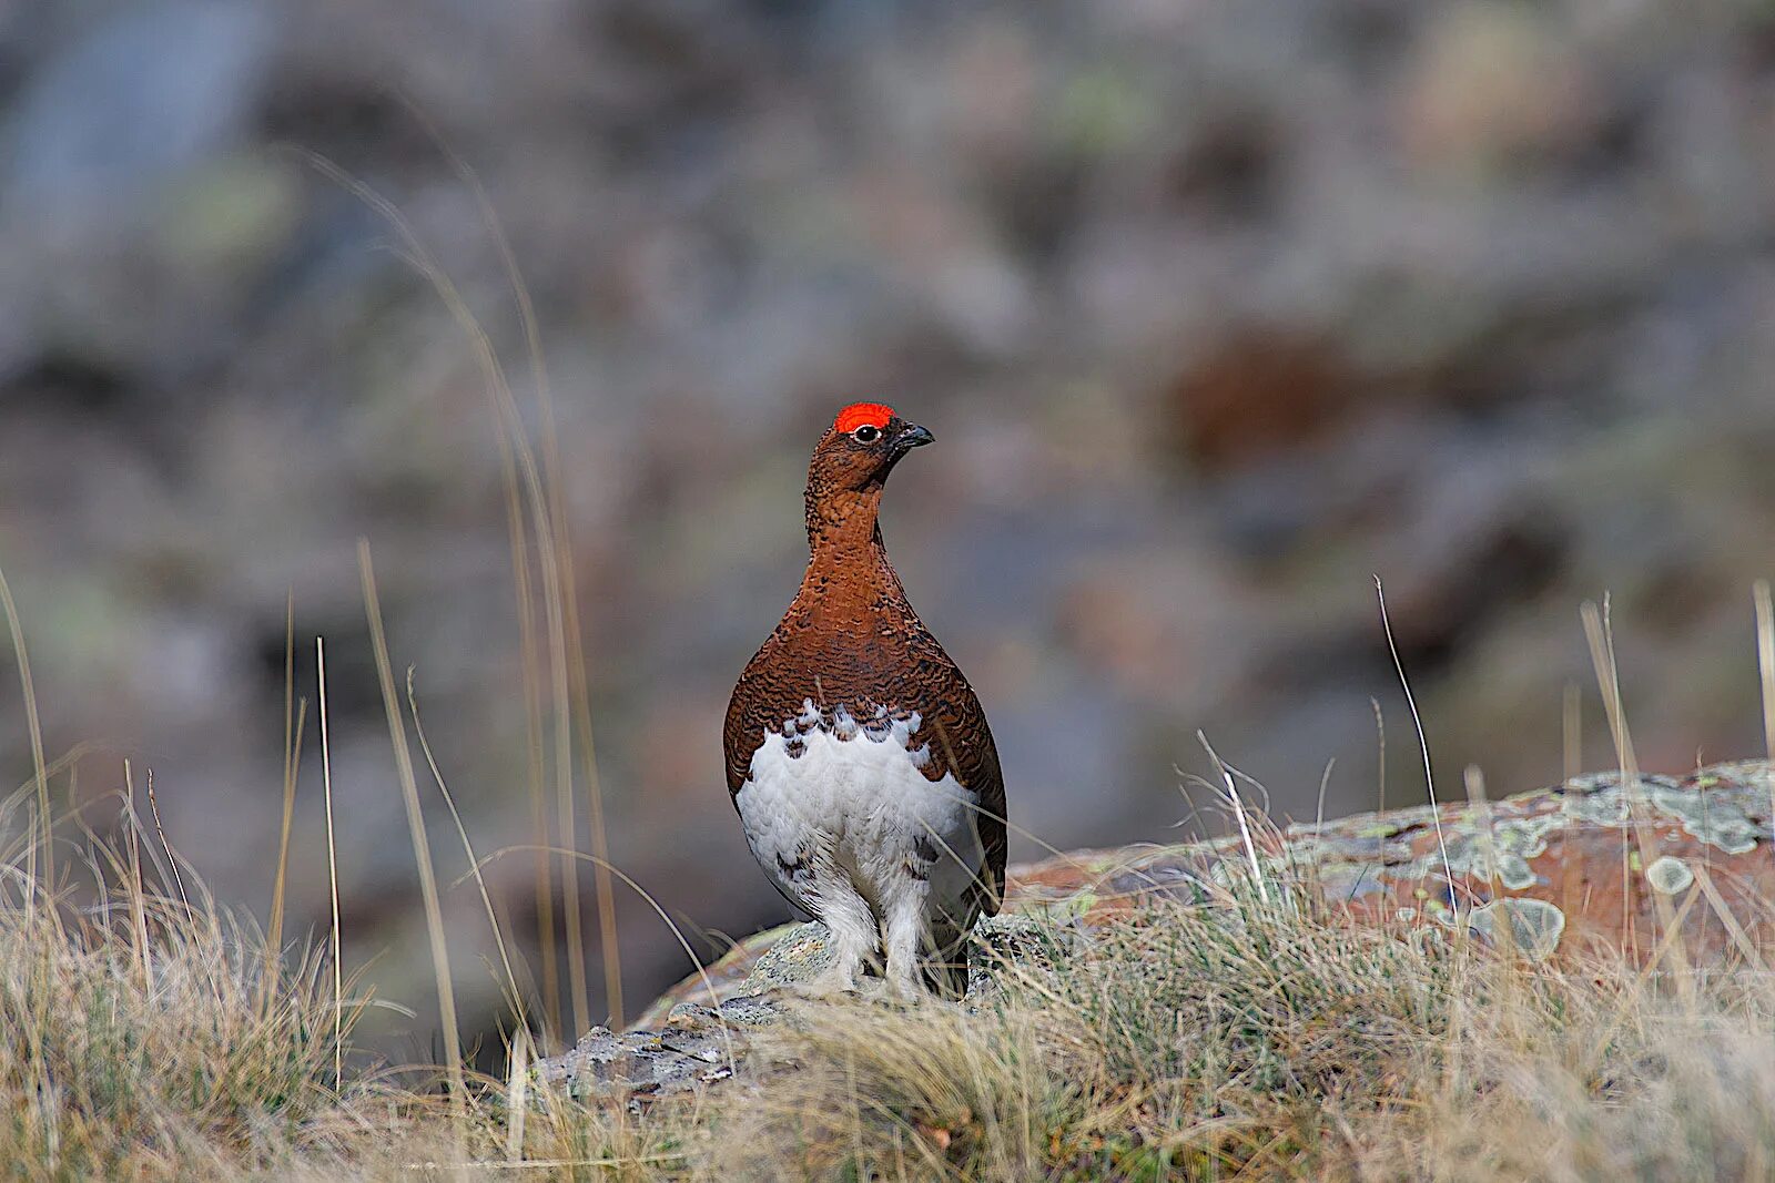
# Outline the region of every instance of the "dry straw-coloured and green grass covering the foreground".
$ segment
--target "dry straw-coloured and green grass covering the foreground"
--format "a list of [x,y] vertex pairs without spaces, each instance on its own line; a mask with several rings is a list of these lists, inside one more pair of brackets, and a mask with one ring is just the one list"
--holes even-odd
[[[967,1006],[795,999],[737,1071],[568,1094],[353,1054],[325,940],[215,901],[149,809],[117,839],[12,798],[0,1144],[14,1178],[1596,1179],[1775,1167],[1764,917],[1708,960],[1530,958],[1431,910],[1351,924],[1314,867],[1061,913]],[[69,827],[71,828],[71,827]],[[1248,818],[1257,848],[1267,823]],[[1255,850],[1253,848],[1253,853]],[[1628,855],[1624,853],[1624,858]],[[1225,866],[1239,866],[1228,860]],[[1706,908],[1699,892],[1679,899]],[[337,993],[335,993],[337,991]],[[394,1000],[389,1000],[394,1002]]]

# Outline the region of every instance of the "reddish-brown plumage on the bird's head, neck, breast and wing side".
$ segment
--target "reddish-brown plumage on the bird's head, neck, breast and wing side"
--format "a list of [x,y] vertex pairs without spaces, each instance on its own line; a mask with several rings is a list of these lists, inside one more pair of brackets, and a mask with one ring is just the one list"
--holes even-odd
[[928,743],[925,779],[939,782],[953,773],[978,795],[985,857],[969,899],[971,922],[973,913],[999,908],[1005,782],[980,701],[907,601],[877,525],[888,474],[911,447],[930,442],[930,433],[888,408],[877,411],[886,420],[877,438],[859,442],[841,429],[845,415],[854,415],[847,410],[815,449],[806,493],[808,569],[733,690],[724,729],[728,791],[737,798],[747,784],[767,736],[786,734],[793,743],[786,720],[802,717],[809,701],[827,722],[847,711],[864,729],[916,713],[909,747]]

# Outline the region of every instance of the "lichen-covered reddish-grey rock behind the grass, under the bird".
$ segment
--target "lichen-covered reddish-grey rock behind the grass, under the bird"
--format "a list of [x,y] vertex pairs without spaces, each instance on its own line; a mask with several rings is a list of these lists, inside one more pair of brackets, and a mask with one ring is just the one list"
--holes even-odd
[[[1754,935],[1775,899],[1771,795],[1775,777],[1763,761],[1683,779],[1642,775],[1631,786],[1619,773],[1598,773],[1489,805],[1294,825],[1260,842],[1257,862],[1267,883],[1310,876],[1353,922],[1459,917],[1498,940],[1498,919],[1507,917],[1511,942],[1534,958],[1598,947],[1645,956],[1660,942],[1660,908],[1674,901],[1684,951],[1706,961],[1745,929]],[[1005,913],[978,929],[987,952],[976,958],[969,991],[990,988],[994,954],[1031,956],[1054,921],[1088,931],[1161,899],[1209,903],[1250,883],[1250,866],[1241,841],[1225,837],[1085,850],[1012,867]],[[1702,899],[1683,906],[1693,892]],[[662,995],[639,1025],[657,1025],[685,1000],[712,1004],[793,986],[818,972],[824,956],[818,924],[758,933]]]

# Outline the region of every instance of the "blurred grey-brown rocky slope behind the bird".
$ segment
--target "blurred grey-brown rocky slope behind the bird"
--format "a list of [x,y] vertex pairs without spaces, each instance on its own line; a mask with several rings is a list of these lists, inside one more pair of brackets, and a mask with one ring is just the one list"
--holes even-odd
[[[1445,795],[1468,763],[1558,779],[1569,685],[1612,761],[1578,623],[1605,591],[1642,763],[1761,752],[1768,0],[0,5],[0,564],[50,754],[94,745],[94,825],[124,757],[153,768],[172,842],[263,917],[293,596],[300,693],[328,642],[346,960],[419,1015],[378,1011],[385,1046],[431,1052],[435,1004],[355,539],[481,851],[531,841],[524,674],[474,341],[311,156],[405,215],[534,435],[451,153],[536,307],[612,857],[699,956],[786,915],[719,724],[854,397],[937,435],[886,532],[1056,846],[1172,835],[1196,729],[1276,812],[1331,759],[1328,812],[1372,807],[1374,702],[1386,793],[1420,800],[1372,575]],[[302,933],[316,750],[311,715]],[[28,779],[12,674],[0,759]],[[529,855],[488,876],[534,956]],[[634,1013],[685,960],[618,905]]]

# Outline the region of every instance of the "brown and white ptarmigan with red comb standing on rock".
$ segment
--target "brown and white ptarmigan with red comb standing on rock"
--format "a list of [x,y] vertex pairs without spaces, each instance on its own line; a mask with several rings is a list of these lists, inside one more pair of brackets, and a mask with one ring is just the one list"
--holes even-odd
[[1005,780],[962,670],[912,610],[875,514],[888,474],[932,435],[854,403],[808,466],[808,573],[728,704],[728,791],[832,963],[916,993],[967,986],[966,938],[999,908]]

